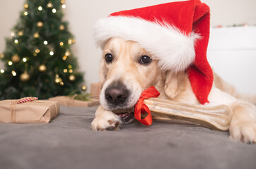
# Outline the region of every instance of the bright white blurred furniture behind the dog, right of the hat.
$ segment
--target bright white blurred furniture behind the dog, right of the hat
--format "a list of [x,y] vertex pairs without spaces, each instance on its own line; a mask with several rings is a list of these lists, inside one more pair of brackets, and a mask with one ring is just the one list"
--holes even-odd
[[256,26],[211,29],[208,61],[238,91],[256,94]]

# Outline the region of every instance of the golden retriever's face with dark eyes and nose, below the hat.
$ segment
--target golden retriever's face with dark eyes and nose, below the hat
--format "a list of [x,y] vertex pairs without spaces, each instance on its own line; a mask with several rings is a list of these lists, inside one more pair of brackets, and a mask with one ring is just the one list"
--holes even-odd
[[137,42],[110,39],[100,61],[100,104],[107,110],[132,108],[141,92],[161,83],[158,61]]

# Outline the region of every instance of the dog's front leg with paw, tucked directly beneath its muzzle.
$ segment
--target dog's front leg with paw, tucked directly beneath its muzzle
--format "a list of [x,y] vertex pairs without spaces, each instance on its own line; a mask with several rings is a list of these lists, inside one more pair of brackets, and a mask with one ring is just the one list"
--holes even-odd
[[99,106],[91,127],[93,130],[119,130],[121,124],[120,117],[112,111],[106,111],[103,106]]

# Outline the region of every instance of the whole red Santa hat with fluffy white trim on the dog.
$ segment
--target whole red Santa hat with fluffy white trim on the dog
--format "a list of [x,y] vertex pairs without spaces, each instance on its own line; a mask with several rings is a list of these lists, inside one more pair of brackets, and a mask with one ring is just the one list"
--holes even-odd
[[99,20],[94,37],[102,48],[111,37],[138,42],[162,70],[187,70],[195,96],[205,104],[213,84],[206,59],[209,17],[209,6],[199,0],[136,8]]

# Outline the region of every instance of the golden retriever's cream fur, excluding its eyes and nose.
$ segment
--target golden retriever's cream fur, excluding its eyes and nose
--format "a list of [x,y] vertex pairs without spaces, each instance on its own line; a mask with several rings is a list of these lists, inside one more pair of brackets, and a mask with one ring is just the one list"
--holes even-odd
[[[105,55],[112,54],[113,61],[105,62]],[[141,56],[149,56],[152,61],[148,65],[141,64]],[[186,72],[173,73],[158,67],[156,56],[149,54],[141,45],[112,38],[104,46],[103,58],[100,62],[100,107],[91,123],[93,130],[113,130],[122,123],[120,117],[112,110],[116,108],[132,108],[138,101],[141,92],[154,86],[161,93],[159,98],[179,101],[188,104],[199,104]],[[109,87],[122,86],[129,91],[124,104],[112,105],[105,99],[105,90]],[[214,85],[208,97],[210,104],[226,104],[233,110],[230,125],[230,137],[247,143],[256,142],[256,96],[245,96],[235,92],[231,85],[214,75]],[[252,102],[252,103],[249,103]]]

